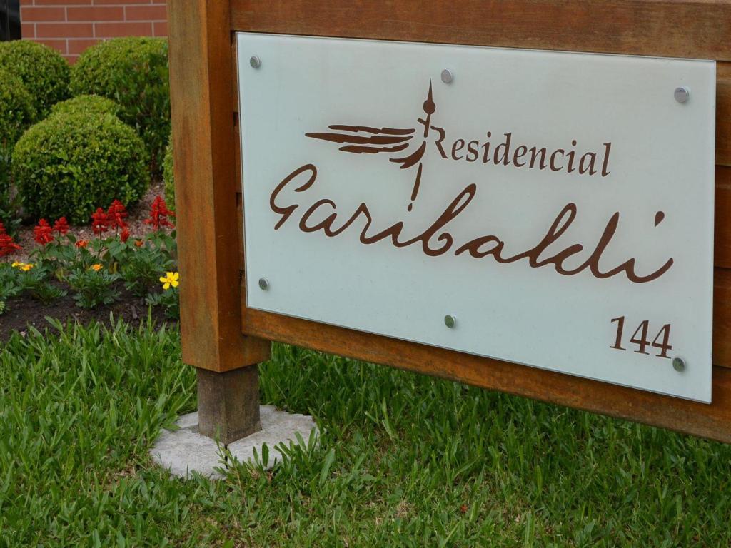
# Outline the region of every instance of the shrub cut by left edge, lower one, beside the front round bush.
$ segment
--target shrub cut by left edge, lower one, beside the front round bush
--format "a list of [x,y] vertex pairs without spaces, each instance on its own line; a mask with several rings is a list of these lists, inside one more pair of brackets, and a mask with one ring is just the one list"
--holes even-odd
[[[10,183],[10,153],[20,135],[34,122],[33,99],[23,82],[0,69],[0,194]],[[1,200],[0,200],[1,202]],[[0,208],[3,204],[0,203]]]

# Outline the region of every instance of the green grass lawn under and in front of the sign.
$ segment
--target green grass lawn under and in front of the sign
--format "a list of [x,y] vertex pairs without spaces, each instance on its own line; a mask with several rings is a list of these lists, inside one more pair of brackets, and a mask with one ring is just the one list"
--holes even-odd
[[183,482],[148,457],[195,407],[176,331],[15,336],[0,546],[731,544],[730,446],[279,345],[261,389],[319,448]]

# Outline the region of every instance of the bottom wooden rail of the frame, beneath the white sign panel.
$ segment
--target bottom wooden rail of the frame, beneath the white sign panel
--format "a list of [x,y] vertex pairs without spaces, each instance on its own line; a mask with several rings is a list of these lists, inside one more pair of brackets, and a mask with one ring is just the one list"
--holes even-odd
[[707,405],[268,312],[246,309],[243,321],[257,337],[731,442],[727,368],[713,368]]

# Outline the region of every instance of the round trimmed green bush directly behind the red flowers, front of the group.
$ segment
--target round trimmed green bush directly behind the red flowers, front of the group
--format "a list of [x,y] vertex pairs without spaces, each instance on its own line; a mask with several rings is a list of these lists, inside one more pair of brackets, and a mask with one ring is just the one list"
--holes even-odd
[[148,154],[135,130],[110,114],[58,113],[20,137],[12,175],[26,213],[86,224],[99,204],[143,196]]

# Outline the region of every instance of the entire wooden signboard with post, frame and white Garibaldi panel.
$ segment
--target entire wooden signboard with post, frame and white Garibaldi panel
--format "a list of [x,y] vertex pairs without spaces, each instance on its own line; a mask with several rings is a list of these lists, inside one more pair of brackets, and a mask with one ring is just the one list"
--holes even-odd
[[276,340],[731,441],[731,5],[340,4],[170,1],[201,432],[257,430]]

